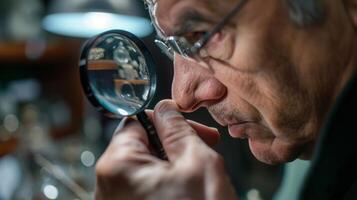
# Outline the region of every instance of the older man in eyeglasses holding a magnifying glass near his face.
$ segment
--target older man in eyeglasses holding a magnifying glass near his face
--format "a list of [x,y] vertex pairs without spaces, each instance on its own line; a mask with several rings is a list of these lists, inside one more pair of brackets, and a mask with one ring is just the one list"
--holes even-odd
[[[351,120],[348,109],[356,110],[348,86],[355,84],[356,0],[147,4],[158,44],[174,59],[173,101],[160,102],[152,113],[169,161],[150,154],[138,122],[123,120],[97,163],[98,199],[235,199],[223,161],[209,147],[218,133],[180,114],[199,107],[232,137],[248,139],[262,162],[313,158],[302,198],[351,195],[356,165],[348,160],[356,154],[348,151],[339,160],[330,147],[336,137],[342,142],[337,148],[356,137],[348,132],[352,123],[344,124]],[[340,111],[346,105],[352,107]],[[340,173],[344,167],[349,177]]]

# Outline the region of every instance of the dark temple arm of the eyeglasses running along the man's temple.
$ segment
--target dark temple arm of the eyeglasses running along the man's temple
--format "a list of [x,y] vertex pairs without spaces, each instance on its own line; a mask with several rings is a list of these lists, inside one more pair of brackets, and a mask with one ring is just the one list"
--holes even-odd
[[211,39],[213,35],[215,35],[218,31],[220,31],[224,25],[228,23],[228,21],[243,7],[244,3],[247,0],[241,0],[239,4],[237,4],[236,7],[234,7],[223,19],[221,22],[219,22],[211,31],[207,32],[200,38],[193,47],[191,48],[191,53],[195,54],[197,53],[203,46],[207,44],[207,42]]

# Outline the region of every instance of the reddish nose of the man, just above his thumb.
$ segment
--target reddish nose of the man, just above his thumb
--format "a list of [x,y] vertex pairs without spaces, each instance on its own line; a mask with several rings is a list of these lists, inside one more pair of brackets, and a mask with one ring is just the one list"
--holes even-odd
[[226,93],[227,88],[208,68],[175,56],[172,98],[183,112],[217,103]]

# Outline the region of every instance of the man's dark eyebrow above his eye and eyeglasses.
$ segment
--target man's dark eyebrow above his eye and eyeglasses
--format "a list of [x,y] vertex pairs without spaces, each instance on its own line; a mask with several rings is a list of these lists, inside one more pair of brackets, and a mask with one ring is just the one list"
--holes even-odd
[[178,17],[177,23],[172,29],[172,34],[180,36],[192,30],[198,23],[211,21],[196,10],[187,10]]

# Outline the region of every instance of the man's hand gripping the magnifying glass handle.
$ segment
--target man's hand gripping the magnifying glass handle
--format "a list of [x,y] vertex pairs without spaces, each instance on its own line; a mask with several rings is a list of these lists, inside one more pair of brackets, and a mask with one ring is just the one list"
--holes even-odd
[[203,141],[216,142],[216,130],[188,122],[169,100],[152,118],[169,161],[152,156],[145,130],[127,121],[97,163],[96,199],[236,199],[222,158]]

